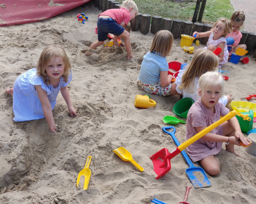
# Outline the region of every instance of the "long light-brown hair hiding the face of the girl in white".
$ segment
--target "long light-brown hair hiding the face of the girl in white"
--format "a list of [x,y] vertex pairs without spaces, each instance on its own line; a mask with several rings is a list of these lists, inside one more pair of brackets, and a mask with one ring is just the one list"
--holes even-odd
[[179,85],[179,89],[186,89],[188,93],[193,92],[194,79],[200,78],[205,72],[218,70],[218,65],[219,59],[212,51],[202,49],[195,52],[195,56],[182,75],[182,84]]

